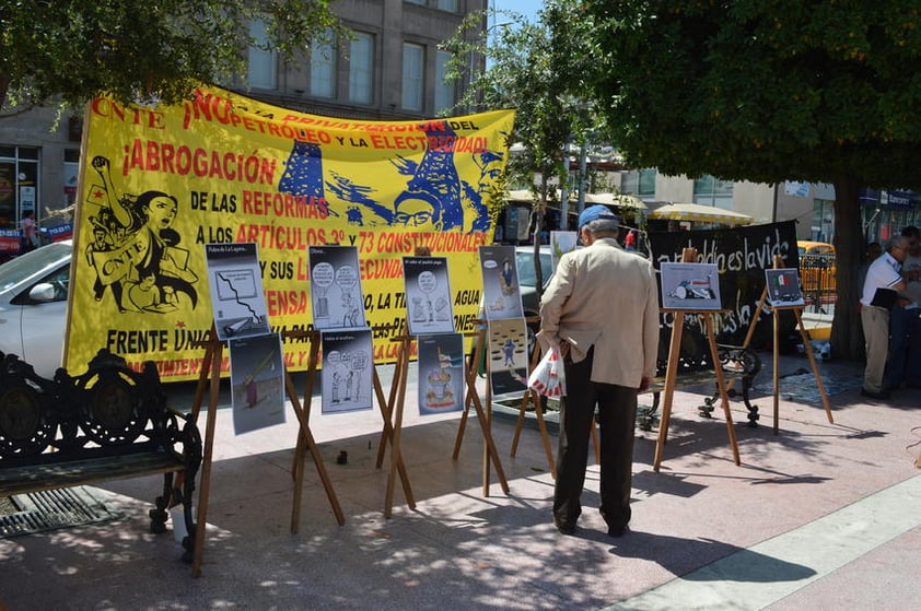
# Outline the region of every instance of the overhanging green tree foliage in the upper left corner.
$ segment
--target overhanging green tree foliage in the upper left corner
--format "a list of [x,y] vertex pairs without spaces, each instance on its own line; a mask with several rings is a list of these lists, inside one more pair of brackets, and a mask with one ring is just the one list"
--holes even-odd
[[[79,106],[177,102],[201,83],[246,73],[248,24],[290,60],[311,38],[346,31],[330,0],[7,0],[0,3],[0,108],[51,99]],[[9,99],[8,99],[9,97]]]

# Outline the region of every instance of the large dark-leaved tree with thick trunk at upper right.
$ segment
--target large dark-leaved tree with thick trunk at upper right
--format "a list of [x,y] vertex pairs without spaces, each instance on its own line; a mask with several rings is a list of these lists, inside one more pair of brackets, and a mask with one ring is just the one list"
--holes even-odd
[[598,108],[638,167],[836,189],[831,343],[856,359],[859,190],[912,188],[921,150],[917,0],[582,0],[604,49]]

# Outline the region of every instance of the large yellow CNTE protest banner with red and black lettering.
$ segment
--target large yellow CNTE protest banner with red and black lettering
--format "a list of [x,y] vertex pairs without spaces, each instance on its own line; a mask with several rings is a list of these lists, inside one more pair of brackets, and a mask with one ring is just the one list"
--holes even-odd
[[[182,106],[88,108],[66,365],[101,348],[162,378],[198,376],[211,329],[205,244],[256,243],[269,320],[312,325],[306,249],[358,248],[374,361],[406,318],[401,258],[448,259],[455,327],[471,331],[512,110],[423,121],[306,115],[223,90]],[[308,342],[285,341],[292,371]],[[226,361],[226,359],[225,359]],[[222,364],[228,371],[228,363]]]

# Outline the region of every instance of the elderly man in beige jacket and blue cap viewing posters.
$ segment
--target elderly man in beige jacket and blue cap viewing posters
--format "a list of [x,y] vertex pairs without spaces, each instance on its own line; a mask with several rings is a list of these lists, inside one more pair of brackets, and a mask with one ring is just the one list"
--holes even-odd
[[658,297],[652,265],[620,249],[619,219],[604,205],[579,215],[585,248],[563,255],[540,299],[545,348],[564,356],[568,395],[562,401],[553,524],[575,532],[588,461],[592,418],[601,426],[601,513],[608,534],[630,521],[630,486],[637,392],[655,375]]

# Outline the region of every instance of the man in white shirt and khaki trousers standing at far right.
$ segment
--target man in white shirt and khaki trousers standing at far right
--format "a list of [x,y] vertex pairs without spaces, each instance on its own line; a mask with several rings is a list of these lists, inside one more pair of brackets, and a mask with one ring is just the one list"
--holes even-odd
[[[900,274],[901,263],[908,255],[907,237],[897,235],[889,244],[889,250],[873,261],[863,281],[860,298],[860,321],[866,343],[866,368],[863,372],[861,395],[871,399],[888,399],[889,391],[883,386],[886,360],[889,354],[889,309],[897,291],[905,291]],[[890,291],[889,299],[883,298]]]

